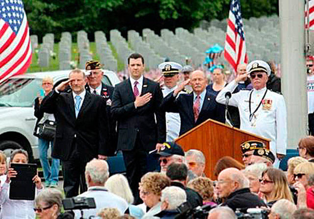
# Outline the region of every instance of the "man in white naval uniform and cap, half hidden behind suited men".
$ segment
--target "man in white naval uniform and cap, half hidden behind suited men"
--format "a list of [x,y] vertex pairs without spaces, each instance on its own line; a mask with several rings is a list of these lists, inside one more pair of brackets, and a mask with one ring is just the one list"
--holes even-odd
[[[164,86],[162,88],[162,95],[166,97],[178,87],[179,71],[182,69],[182,66],[176,62],[163,62],[158,68],[163,74]],[[178,138],[180,123],[179,113],[166,113],[167,142],[172,142]]]

